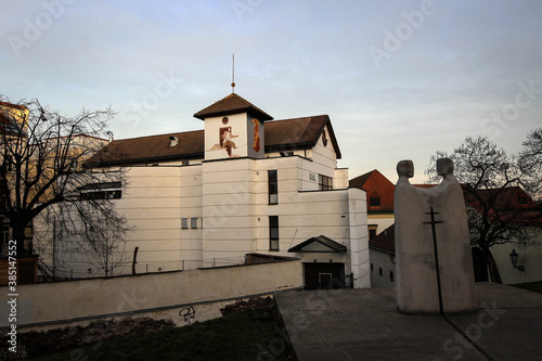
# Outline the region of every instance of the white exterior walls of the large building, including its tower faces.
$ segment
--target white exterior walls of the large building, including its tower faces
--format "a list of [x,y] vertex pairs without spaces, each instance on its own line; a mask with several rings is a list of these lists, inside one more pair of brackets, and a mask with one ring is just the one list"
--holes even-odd
[[[336,168],[331,139],[324,145],[320,138],[307,152],[309,158],[305,151],[295,152],[304,156],[283,157],[278,153],[276,157],[267,154],[261,159],[224,158],[224,150],[210,151],[219,142],[218,129],[224,126],[240,136],[235,138],[238,146],[243,139],[246,143],[247,121],[246,114],[229,116],[228,125],[222,125],[222,117],[206,119],[207,159],[203,163],[127,170],[122,198],[114,202],[133,231],[127,242],[126,266],[116,273],[131,272],[136,247],[137,272],[157,272],[215,262],[241,263],[245,254],[254,252],[293,256],[287,253],[291,247],[323,234],[348,246],[348,254],[337,261],[345,262],[346,272],[353,272],[359,285],[369,286],[365,194],[347,190],[348,169]],[[269,204],[268,170],[272,169],[279,177],[276,205]],[[334,178],[334,190],[319,191],[318,175]],[[278,252],[269,249],[270,216],[279,216]],[[189,229],[181,228],[183,218]],[[192,218],[197,219],[197,229],[191,228]],[[81,276],[89,266],[76,255],[68,267],[83,272],[75,274]],[[93,271],[89,276],[95,274]]]

